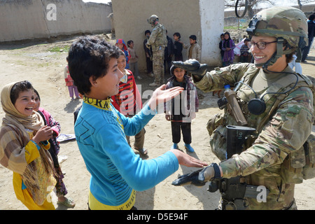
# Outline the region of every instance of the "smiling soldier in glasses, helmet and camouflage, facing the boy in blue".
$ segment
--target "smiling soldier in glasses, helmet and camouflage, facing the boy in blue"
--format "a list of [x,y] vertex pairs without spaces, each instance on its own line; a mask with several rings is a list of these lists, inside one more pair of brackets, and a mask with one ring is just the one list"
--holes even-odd
[[[295,50],[300,57],[307,45],[306,17],[293,7],[267,8],[252,18],[246,31],[252,36],[248,47],[254,64],[232,64],[206,72],[207,64],[194,67],[191,61],[173,62],[193,73],[195,85],[204,92],[239,83],[235,91],[238,105],[246,126],[255,129],[244,151],[226,158],[226,126],[238,125],[230,107],[226,108],[224,115],[209,120],[208,126],[211,150],[221,162],[183,175],[173,184],[202,186],[214,179],[242,176],[244,183],[265,186],[270,191],[262,202],[243,197],[245,209],[297,209],[295,184],[307,179],[302,172],[307,160],[303,146],[311,137],[314,122],[314,86],[307,76],[295,73],[288,62]],[[234,203],[227,207],[238,209]]]

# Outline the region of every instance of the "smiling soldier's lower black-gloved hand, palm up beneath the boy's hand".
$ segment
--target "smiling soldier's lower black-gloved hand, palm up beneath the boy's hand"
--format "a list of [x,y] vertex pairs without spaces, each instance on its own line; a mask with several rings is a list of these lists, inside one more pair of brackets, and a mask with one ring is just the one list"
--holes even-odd
[[220,178],[221,178],[220,168],[216,163],[212,163],[210,166],[204,167],[204,169],[200,169],[193,173],[179,176],[179,179],[173,181],[172,185],[184,186],[187,184],[193,184],[197,187],[201,187],[204,186],[204,184],[207,183],[207,181]]

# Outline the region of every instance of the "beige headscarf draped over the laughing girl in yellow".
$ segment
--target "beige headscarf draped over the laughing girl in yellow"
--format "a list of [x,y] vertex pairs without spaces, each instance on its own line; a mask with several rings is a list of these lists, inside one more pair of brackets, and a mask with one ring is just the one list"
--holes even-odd
[[[35,111],[31,116],[25,116],[15,108],[10,99],[10,91],[14,84],[5,85],[1,91],[1,105],[6,114],[0,130],[0,164],[21,175],[25,186],[34,199],[42,184],[39,181],[41,178],[38,178],[35,160],[27,164],[25,159],[25,154],[29,153],[25,150],[25,146],[30,141],[26,128],[37,131],[43,127],[44,121],[40,114]],[[39,145],[41,146],[41,144]],[[47,176],[55,175],[50,153],[43,146],[41,146],[39,153]],[[36,203],[41,204],[42,202],[40,200]]]

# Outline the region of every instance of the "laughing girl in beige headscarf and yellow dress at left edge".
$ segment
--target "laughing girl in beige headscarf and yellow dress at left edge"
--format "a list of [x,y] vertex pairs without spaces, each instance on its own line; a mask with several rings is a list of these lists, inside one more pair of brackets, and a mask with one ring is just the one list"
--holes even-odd
[[25,80],[1,91],[5,112],[0,130],[0,164],[13,171],[15,195],[30,210],[55,209],[50,192],[56,177],[47,141],[51,127],[33,111],[34,90]]

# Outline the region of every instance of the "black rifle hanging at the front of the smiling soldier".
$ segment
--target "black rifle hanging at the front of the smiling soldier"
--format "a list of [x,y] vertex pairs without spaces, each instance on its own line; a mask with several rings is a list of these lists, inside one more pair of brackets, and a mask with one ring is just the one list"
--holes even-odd
[[[228,125],[226,158],[229,159],[232,155],[241,153],[248,135],[254,131],[255,129],[251,127]],[[247,207],[244,197],[258,198],[260,188],[247,185],[241,182],[242,179],[241,176],[237,176],[230,179],[215,179],[209,183],[209,192],[214,193],[220,190],[223,210],[244,210]],[[269,193],[268,189],[266,193]]]

